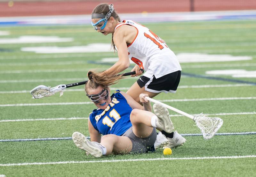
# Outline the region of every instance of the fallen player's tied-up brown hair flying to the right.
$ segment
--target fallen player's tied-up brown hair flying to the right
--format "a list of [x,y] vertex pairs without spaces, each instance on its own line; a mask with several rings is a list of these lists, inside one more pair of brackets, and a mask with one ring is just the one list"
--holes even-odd
[[114,76],[99,76],[99,73],[94,71],[89,71],[87,73],[87,77],[89,78],[88,82],[85,84],[85,92],[87,93],[88,89],[96,89],[99,86],[102,86],[105,89],[108,89],[109,85],[116,84],[119,79],[124,78],[122,75],[114,75]]

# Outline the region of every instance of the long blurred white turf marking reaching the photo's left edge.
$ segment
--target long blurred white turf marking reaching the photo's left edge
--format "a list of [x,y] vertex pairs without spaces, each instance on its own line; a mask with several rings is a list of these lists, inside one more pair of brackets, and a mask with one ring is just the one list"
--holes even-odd
[[73,38],[60,38],[58,36],[20,36],[18,38],[2,38],[0,44],[71,42]]

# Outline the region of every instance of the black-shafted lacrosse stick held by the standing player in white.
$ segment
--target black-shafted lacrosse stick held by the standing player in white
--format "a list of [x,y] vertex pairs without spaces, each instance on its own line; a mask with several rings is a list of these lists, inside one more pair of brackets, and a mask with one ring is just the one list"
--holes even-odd
[[[144,72],[144,70],[140,69],[142,71],[142,73]],[[135,74],[135,71],[132,71],[132,72],[127,72],[127,73],[124,73],[124,74],[119,74],[119,75],[122,75],[122,76],[130,76],[130,75],[133,75]],[[60,92],[60,96],[63,95],[63,92],[65,91],[66,88],[69,88],[69,87],[74,87],[74,86],[78,86],[78,85],[84,85],[86,84],[87,81],[83,81],[83,82],[76,82],[76,83],[73,83],[73,84],[61,84],[61,85],[57,85],[55,87],[47,87],[45,85],[38,85],[37,87],[33,88],[31,91],[30,91],[30,94],[32,95],[32,98],[36,98],[36,99],[39,99],[39,98],[43,98],[43,97],[49,97],[49,96],[52,96],[54,95],[56,92]]]

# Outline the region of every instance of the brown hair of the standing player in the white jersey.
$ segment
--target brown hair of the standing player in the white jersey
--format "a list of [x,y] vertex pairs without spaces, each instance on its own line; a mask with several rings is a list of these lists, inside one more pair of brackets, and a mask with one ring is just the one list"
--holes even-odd
[[[108,12],[109,12],[108,4],[99,4],[92,11],[92,13],[100,13],[100,14],[103,14],[103,15],[107,15]],[[118,16],[118,14],[116,13],[115,10],[111,13],[110,17],[113,17],[117,21],[121,22],[120,17]],[[115,45],[114,40],[113,40],[113,36],[114,36],[114,34],[112,34],[111,48],[113,48],[114,51],[117,51],[116,50],[116,45]]]

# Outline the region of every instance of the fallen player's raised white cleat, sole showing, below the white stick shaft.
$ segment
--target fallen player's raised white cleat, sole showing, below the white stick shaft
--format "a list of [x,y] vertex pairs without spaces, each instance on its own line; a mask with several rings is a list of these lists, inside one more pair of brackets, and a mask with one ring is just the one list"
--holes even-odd
[[156,127],[160,130],[164,130],[167,133],[172,133],[174,127],[170,119],[168,109],[157,103],[153,105],[153,109],[156,116],[158,117],[156,121]]

